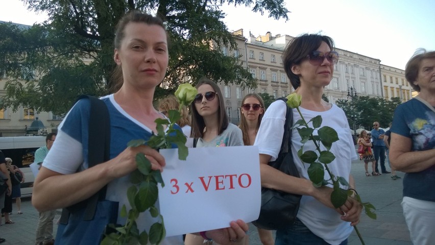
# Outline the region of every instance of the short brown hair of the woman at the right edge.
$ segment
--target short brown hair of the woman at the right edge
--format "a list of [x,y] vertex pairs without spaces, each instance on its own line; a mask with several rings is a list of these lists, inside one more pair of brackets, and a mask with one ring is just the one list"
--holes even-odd
[[435,51],[427,52],[424,48],[419,48],[406,63],[405,78],[411,87],[418,92],[420,92],[420,86],[414,84],[414,82],[417,81],[421,61],[431,58],[435,58]]

